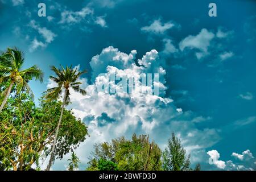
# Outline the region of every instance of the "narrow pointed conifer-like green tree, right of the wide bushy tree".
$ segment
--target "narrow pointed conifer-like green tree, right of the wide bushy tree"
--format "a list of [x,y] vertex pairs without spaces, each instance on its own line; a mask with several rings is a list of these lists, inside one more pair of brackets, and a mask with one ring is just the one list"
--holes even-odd
[[172,133],[172,137],[168,140],[168,147],[163,152],[163,169],[165,171],[188,171],[189,165],[190,155],[186,156],[180,140]]

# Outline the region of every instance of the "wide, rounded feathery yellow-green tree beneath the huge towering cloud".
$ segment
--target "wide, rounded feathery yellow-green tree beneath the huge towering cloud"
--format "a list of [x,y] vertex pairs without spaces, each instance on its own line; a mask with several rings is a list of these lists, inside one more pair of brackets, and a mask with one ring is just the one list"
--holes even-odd
[[155,142],[149,142],[147,135],[133,135],[131,140],[124,137],[113,139],[111,143],[94,146],[88,170],[99,169],[100,159],[117,164],[121,171],[160,170],[161,150]]

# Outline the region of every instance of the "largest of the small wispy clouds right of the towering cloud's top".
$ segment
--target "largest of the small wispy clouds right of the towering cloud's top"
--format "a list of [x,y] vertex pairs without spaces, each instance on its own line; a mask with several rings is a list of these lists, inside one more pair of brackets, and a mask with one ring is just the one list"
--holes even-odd
[[200,52],[196,52],[196,57],[197,59],[201,59],[208,55],[208,47],[214,36],[213,32],[203,28],[198,35],[189,35],[181,40],[179,43],[180,50],[184,51],[185,48],[198,49]]

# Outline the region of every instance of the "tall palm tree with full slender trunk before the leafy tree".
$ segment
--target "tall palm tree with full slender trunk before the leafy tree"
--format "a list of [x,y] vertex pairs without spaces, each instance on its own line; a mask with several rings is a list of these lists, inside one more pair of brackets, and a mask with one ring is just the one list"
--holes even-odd
[[61,96],[61,94],[64,91],[64,98],[63,98],[63,104],[61,106],[61,113],[60,113],[60,118],[59,122],[57,124],[56,128],[56,134],[55,138],[53,140],[52,144],[52,151],[51,151],[51,157],[49,159],[49,163],[47,166],[47,171],[52,166],[53,158],[54,158],[54,151],[55,151],[55,146],[56,146],[56,141],[57,141],[57,135],[59,133],[59,128],[60,128],[60,123],[61,119],[63,116],[63,110],[64,106],[68,105],[70,102],[70,92],[69,89],[72,88],[76,92],[80,92],[83,96],[86,94],[85,90],[80,88],[80,85],[82,84],[81,82],[78,82],[77,79],[83,74],[86,73],[86,71],[79,72],[77,69],[72,69],[71,67],[66,67],[65,69],[61,66],[61,69],[57,69],[56,67],[52,66],[51,70],[55,72],[56,77],[50,76],[50,79],[54,82],[56,82],[57,86],[51,89],[47,90],[46,98],[48,100],[56,100]]

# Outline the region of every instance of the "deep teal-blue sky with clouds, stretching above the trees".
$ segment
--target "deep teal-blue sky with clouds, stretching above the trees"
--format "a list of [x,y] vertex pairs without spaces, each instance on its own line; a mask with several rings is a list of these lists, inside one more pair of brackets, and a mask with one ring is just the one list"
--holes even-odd
[[[47,17],[38,16],[40,2],[46,3]],[[81,78],[87,89],[95,87],[100,70],[108,74],[107,65],[118,72],[134,71],[123,61],[146,63],[146,52],[154,57],[152,70],[165,70],[160,104],[148,95],[73,96],[69,108],[94,133],[77,151],[80,169],[95,142],[137,132],[150,134],[164,148],[171,131],[191,152],[192,164],[200,162],[203,169],[256,169],[256,2],[215,0],[217,17],[209,17],[211,2],[0,0],[0,49],[16,46],[25,52],[25,67],[43,69],[44,83],[30,82],[36,98],[52,84],[49,65],[88,69]],[[113,55],[117,61],[111,61]],[[154,103],[143,103],[142,97]],[[140,104],[144,109],[134,113]],[[130,122],[134,118],[139,119]],[[122,133],[115,132],[120,129]],[[220,158],[210,165],[209,156],[217,154]],[[65,169],[64,164],[65,159],[56,161],[53,169]]]

